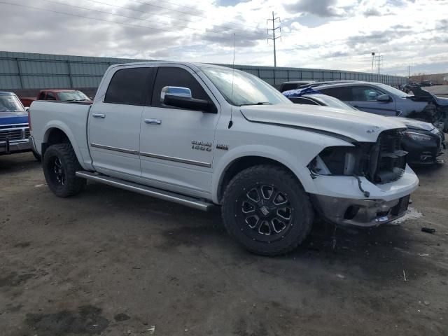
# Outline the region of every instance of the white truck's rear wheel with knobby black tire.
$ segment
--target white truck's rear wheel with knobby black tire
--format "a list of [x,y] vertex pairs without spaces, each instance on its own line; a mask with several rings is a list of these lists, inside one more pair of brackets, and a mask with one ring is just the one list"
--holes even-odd
[[83,190],[87,180],[76,172],[82,170],[71,144],[48,147],[43,155],[43,174],[48,188],[58,197],[69,197]]

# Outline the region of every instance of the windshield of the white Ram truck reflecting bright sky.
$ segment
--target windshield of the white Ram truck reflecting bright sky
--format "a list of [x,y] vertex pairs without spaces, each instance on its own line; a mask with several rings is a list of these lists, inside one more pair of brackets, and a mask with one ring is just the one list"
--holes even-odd
[[274,87],[250,73],[209,66],[202,67],[202,72],[232,105],[293,104]]

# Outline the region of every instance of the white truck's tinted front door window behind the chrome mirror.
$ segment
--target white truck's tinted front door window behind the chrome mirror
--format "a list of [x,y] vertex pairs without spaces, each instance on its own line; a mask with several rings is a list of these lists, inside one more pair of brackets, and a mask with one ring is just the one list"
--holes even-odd
[[200,83],[188,71],[174,67],[160,67],[155,77],[153,99],[151,105],[162,106],[160,94],[165,86],[188,87],[195,99],[210,100]]

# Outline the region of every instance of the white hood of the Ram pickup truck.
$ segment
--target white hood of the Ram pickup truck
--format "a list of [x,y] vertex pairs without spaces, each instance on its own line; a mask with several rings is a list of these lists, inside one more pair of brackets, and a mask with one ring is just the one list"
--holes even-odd
[[277,104],[241,106],[239,109],[251,122],[297,127],[361,142],[377,141],[384,130],[406,128],[404,123],[392,118],[328,106]]

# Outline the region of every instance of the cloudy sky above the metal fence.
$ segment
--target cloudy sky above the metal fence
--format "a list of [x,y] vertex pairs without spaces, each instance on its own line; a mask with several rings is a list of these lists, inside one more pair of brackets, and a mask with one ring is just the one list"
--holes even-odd
[[0,49],[273,65],[272,11],[277,66],[448,72],[448,0],[0,0]]

